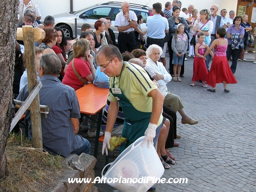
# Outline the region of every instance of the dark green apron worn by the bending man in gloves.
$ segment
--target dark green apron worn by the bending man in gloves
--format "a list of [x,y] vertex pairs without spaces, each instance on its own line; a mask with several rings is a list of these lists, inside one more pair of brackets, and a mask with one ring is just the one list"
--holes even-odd
[[[120,84],[120,78],[122,75],[123,68],[125,66],[125,62],[123,62],[122,70],[119,76],[119,84]],[[114,87],[115,78],[113,79],[113,88],[120,88]],[[120,146],[120,153],[125,150],[129,145],[134,143],[138,138],[145,135],[145,131],[148,128],[148,123],[150,121],[151,112],[141,112],[134,108],[134,106],[131,104],[131,102],[125,97],[121,90],[121,94],[113,93],[112,89],[109,89],[110,92],[113,94],[114,97],[118,97],[118,102],[120,103],[122,107],[122,111],[125,115],[125,122],[124,127],[122,131],[122,137],[125,137],[128,139],[126,143],[122,143]]]

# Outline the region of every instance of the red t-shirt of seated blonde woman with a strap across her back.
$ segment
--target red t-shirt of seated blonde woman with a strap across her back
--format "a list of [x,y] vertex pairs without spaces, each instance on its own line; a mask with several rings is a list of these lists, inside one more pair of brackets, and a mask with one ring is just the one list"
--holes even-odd
[[[81,58],[75,58],[74,60],[74,67],[77,71],[77,73],[80,74],[80,76],[85,80],[86,76],[90,75],[90,64],[88,61],[83,61]],[[73,71],[72,68],[72,61],[67,67],[65,76],[62,80],[63,84],[69,85],[70,87],[74,88],[75,90],[78,90],[79,88],[84,86],[84,83],[78,79],[76,76],[75,72]]]

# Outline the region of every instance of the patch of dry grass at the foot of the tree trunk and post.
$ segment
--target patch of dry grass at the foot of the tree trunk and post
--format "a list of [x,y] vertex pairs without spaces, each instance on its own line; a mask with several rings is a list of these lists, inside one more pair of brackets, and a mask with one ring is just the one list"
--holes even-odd
[[63,157],[36,151],[32,141],[11,134],[6,146],[9,175],[0,180],[0,192],[41,192],[56,186],[66,163]]

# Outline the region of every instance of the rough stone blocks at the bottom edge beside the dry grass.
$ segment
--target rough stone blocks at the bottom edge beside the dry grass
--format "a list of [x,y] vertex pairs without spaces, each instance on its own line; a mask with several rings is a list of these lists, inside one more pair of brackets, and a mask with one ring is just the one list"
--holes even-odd
[[52,192],[98,192],[94,183],[69,183],[68,178],[95,178],[94,166],[96,165],[96,158],[82,153],[80,156],[70,154],[67,160],[67,169],[63,173],[63,178],[58,182],[59,184],[52,190]]

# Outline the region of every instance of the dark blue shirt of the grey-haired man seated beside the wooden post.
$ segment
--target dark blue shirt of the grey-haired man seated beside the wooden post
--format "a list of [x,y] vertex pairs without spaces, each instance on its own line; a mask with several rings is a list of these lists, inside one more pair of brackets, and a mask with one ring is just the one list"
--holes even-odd
[[[41,114],[43,148],[53,154],[68,157],[70,153],[81,148],[85,139],[75,135],[70,118],[80,118],[79,102],[76,92],[68,85],[50,75],[44,75],[40,81],[43,86],[39,91],[40,104],[50,107],[47,117]],[[28,84],[25,85],[17,100],[25,101],[29,96]],[[26,111],[29,137],[32,139],[30,111]]]

